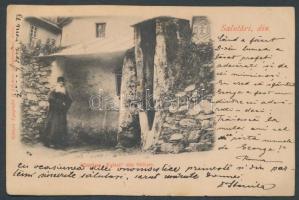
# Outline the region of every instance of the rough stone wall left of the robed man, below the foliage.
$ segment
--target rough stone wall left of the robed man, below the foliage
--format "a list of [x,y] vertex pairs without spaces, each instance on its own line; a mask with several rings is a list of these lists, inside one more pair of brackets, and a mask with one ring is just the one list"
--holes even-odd
[[43,130],[48,109],[49,63],[24,64],[22,77],[22,141],[36,143]]

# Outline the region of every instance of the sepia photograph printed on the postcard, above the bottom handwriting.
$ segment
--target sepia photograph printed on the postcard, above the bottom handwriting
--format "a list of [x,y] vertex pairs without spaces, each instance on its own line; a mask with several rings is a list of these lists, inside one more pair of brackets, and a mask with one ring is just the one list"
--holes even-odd
[[212,149],[208,17],[25,17],[22,27],[24,144],[65,151]]

